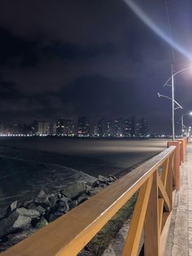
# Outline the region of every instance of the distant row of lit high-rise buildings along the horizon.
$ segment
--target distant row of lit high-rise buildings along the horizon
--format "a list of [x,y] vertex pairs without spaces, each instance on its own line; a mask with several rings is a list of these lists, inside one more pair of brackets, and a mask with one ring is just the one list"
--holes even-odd
[[0,122],[0,135],[58,135],[67,137],[146,137],[150,136],[149,120],[146,118],[59,118],[56,121],[36,120],[32,123]]

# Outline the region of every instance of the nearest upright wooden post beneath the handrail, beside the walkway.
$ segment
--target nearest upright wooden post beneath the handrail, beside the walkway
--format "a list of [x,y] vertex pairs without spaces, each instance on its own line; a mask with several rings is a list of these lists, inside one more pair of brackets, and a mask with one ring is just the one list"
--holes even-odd
[[151,195],[144,225],[144,255],[159,256],[159,205],[157,171],[154,174]]

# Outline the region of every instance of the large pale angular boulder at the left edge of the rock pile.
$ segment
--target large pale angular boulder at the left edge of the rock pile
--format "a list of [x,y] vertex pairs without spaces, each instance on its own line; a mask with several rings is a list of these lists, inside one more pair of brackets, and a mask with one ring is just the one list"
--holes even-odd
[[20,215],[16,210],[0,222],[0,237],[30,227],[32,218]]

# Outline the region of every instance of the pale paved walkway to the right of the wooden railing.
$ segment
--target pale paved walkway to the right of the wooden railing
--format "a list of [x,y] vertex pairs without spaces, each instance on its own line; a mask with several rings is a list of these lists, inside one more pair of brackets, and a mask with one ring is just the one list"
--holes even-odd
[[181,166],[181,188],[176,193],[166,256],[192,256],[192,143]]

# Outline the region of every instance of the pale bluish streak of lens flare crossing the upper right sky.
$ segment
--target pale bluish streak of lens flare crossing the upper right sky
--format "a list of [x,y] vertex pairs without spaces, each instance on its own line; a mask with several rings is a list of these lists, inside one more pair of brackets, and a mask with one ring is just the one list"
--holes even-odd
[[186,58],[192,60],[192,55],[189,51],[186,51],[181,45],[177,42],[174,42],[162,29],[158,27],[153,20],[151,20],[140,7],[137,6],[132,0],[123,0],[127,6],[142,20],[151,30],[153,30],[160,38],[164,39],[169,45],[173,46],[174,49],[179,51],[182,55],[185,55]]

